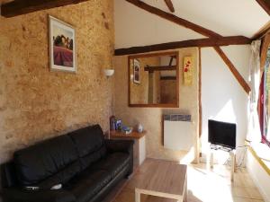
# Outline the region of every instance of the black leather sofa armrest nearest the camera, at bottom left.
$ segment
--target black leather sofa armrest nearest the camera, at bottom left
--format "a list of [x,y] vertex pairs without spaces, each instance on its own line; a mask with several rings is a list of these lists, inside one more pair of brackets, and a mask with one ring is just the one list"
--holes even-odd
[[59,190],[33,190],[28,191],[19,188],[4,188],[3,202],[76,202],[76,198],[70,192]]

